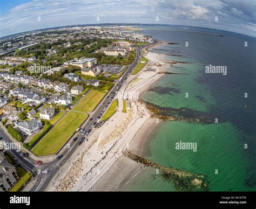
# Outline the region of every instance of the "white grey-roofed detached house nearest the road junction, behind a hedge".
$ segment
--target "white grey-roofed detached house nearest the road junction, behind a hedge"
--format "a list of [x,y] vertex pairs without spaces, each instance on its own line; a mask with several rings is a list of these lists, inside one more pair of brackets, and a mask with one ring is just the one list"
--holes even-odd
[[28,135],[32,135],[33,133],[36,133],[43,127],[43,124],[40,119],[32,119],[31,121],[14,122],[14,124]]

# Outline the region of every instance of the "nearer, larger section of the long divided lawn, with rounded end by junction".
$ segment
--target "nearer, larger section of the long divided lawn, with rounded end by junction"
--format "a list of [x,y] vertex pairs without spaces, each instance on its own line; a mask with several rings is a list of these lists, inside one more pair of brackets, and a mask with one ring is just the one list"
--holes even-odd
[[54,155],[72,136],[88,115],[71,110],[32,150],[37,156]]

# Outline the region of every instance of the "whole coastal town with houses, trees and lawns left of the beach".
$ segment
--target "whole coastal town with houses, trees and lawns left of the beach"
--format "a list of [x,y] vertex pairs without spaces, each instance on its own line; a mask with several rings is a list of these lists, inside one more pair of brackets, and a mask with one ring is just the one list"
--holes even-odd
[[[22,145],[23,157],[56,155],[78,132],[84,136],[80,145],[111,117],[127,75],[136,74],[147,62],[139,48],[154,43],[152,37],[133,30],[130,26],[62,27],[0,41],[0,126]],[[97,118],[90,117],[106,95]],[[129,109],[129,102],[124,103]],[[89,119],[89,130],[81,128]],[[26,172],[24,168],[14,166],[10,152],[1,156],[0,166],[8,164],[11,173],[3,173],[9,182],[2,180],[0,190],[21,190],[32,173],[19,180],[17,172]]]

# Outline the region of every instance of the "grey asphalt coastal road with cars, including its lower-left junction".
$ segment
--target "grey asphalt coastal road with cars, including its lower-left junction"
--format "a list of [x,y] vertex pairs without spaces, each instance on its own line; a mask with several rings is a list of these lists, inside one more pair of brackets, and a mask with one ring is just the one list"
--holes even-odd
[[[146,46],[144,46],[146,47]],[[89,115],[89,118],[84,122],[82,125],[82,129],[86,131],[88,134],[85,136],[85,132],[81,133],[80,131],[76,133],[71,138],[70,148],[65,149],[62,153],[63,157],[58,159],[55,159],[52,162],[49,163],[43,163],[41,165],[36,164],[33,159],[30,157],[24,158],[22,155],[22,152],[17,152],[16,150],[10,150],[12,155],[14,155],[17,158],[17,161],[21,163],[24,168],[32,172],[36,178],[36,183],[32,186],[30,191],[45,191],[48,185],[50,184],[52,178],[56,175],[56,173],[59,173],[59,170],[62,168],[62,166],[70,161],[71,156],[73,153],[77,150],[77,148],[80,146],[79,142],[82,140],[82,138],[85,138],[85,141],[87,138],[89,138],[91,131],[93,131],[93,128],[95,127],[95,124],[97,124],[97,121],[99,121],[100,117],[102,117],[103,113],[105,112],[107,106],[110,105],[111,101],[113,100],[114,96],[116,96],[118,89],[123,85],[127,77],[131,74],[133,68],[137,65],[139,62],[139,59],[141,57],[141,48],[137,49],[137,56],[136,59],[133,61],[133,63],[127,68],[125,73],[122,76],[122,81],[118,80],[115,85],[112,88],[112,91],[105,95],[102,102],[99,103],[99,105],[96,107],[95,110]],[[0,129],[0,134],[3,136],[3,140],[7,142],[12,142],[8,135],[4,133],[2,129]],[[77,137],[76,141],[73,141],[73,138]],[[86,142],[82,142],[86,143]],[[85,149],[86,147],[84,147]],[[57,154],[59,155],[59,154]],[[56,157],[57,157],[56,155]],[[70,162],[71,163],[71,162]],[[42,173],[43,170],[49,169],[48,173]]]

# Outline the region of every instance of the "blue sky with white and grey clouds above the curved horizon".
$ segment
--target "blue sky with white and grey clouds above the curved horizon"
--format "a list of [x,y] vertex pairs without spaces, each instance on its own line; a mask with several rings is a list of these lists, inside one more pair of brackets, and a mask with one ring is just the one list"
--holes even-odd
[[188,25],[256,37],[256,0],[0,0],[0,37],[99,23]]

